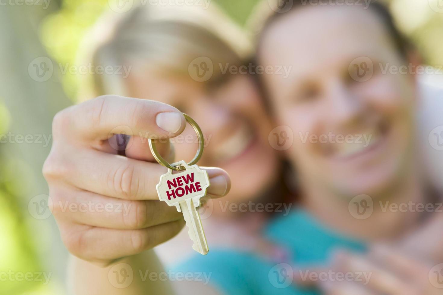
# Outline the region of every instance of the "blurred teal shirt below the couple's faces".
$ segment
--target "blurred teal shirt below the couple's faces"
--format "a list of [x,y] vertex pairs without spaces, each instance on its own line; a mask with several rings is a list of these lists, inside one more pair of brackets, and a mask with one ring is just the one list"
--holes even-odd
[[[172,268],[174,272],[192,272],[196,280],[209,284],[223,294],[319,294],[314,289],[295,286],[292,283],[291,265],[299,267],[321,265],[328,262],[334,249],[363,252],[365,245],[334,233],[303,210],[292,211],[270,222],[265,236],[291,254],[291,261],[273,263],[255,253],[229,249],[211,249],[206,256],[195,255]],[[291,264],[291,265],[290,265]],[[199,273],[204,273],[206,280]]]

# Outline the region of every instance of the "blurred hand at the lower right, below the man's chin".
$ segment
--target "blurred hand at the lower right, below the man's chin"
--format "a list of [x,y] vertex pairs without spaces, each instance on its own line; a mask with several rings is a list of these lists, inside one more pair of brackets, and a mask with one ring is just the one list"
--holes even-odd
[[433,264],[381,245],[366,256],[340,252],[331,268],[295,271],[294,275],[297,283],[316,284],[325,294],[437,295],[443,288]]

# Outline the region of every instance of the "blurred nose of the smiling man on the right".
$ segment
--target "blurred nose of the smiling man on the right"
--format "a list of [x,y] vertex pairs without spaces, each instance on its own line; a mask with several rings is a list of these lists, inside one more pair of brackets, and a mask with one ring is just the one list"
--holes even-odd
[[361,97],[351,92],[342,81],[334,81],[328,87],[327,107],[330,123],[337,125],[357,121],[364,110]]

